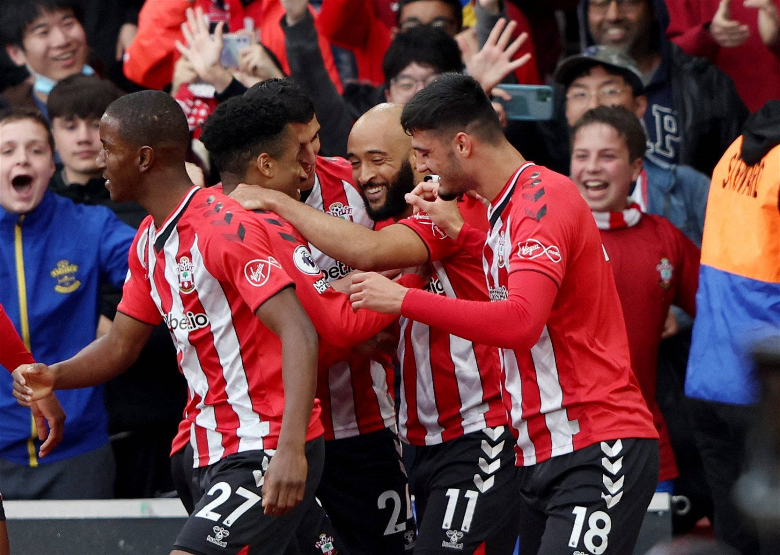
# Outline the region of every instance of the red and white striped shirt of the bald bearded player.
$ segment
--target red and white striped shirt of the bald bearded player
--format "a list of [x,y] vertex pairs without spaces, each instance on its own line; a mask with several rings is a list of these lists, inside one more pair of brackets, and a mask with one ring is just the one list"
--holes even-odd
[[[466,219],[483,219],[484,208],[468,198]],[[431,261],[428,290],[453,298],[488,300],[480,262],[464,253],[423,214],[402,219],[423,240]],[[498,350],[401,317],[399,436],[412,445],[435,445],[465,433],[503,425]]]

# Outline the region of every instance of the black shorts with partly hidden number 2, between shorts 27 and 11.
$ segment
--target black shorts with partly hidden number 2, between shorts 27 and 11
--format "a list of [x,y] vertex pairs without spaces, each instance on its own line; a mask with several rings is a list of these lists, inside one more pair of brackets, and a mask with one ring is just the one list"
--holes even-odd
[[350,555],[399,555],[414,546],[409,482],[392,429],[326,441],[317,498]]

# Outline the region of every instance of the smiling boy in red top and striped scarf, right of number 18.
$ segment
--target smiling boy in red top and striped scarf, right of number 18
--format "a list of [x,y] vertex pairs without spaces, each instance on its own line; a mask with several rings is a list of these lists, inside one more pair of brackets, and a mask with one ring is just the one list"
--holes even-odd
[[644,130],[618,106],[588,110],[572,129],[572,180],[593,212],[626,318],[631,367],[653,414],[661,450],[659,489],[672,493],[677,465],[656,392],[656,363],[669,307],[696,315],[699,249],[665,218],[629,198],[642,169]]

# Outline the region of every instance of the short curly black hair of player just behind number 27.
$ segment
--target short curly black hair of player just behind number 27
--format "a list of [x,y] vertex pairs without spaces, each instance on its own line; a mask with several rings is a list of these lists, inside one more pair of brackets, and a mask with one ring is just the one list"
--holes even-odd
[[239,96],[222,102],[204,123],[200,141],[220,173],[243,176],[250,162],[266,152],[282,155],[289,133],[282,101]]

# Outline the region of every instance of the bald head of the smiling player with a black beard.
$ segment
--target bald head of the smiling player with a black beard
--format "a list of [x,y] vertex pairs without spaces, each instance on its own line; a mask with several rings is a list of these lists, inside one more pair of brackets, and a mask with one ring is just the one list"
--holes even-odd
[[420,180],[413,170],[412,137],[401,126],[399,104],[380,104],[360,116],[347,141],[353,180],[375,221],[410,212],[404,195]]

